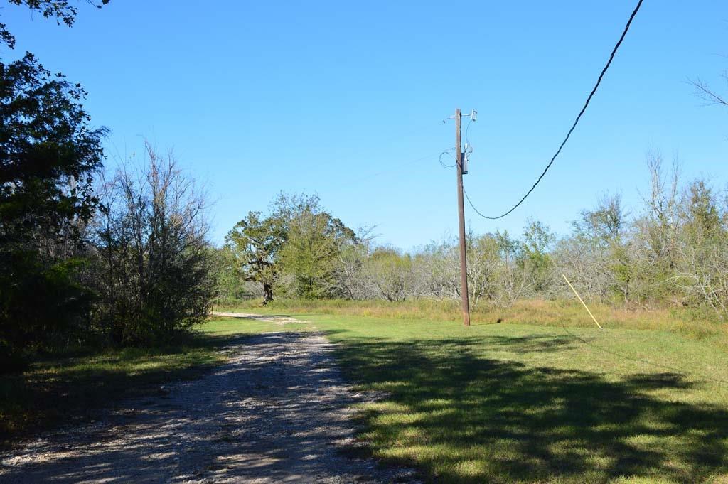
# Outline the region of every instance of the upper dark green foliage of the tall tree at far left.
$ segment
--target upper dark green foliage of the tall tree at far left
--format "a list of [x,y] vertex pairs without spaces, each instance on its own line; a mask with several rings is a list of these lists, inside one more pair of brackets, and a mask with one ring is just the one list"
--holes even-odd
[[103,128],[92,129],[86,93],[31,54],[0,63],[0,243],[25,246],[39,229],[57,239],[95,210],[92,173]]

